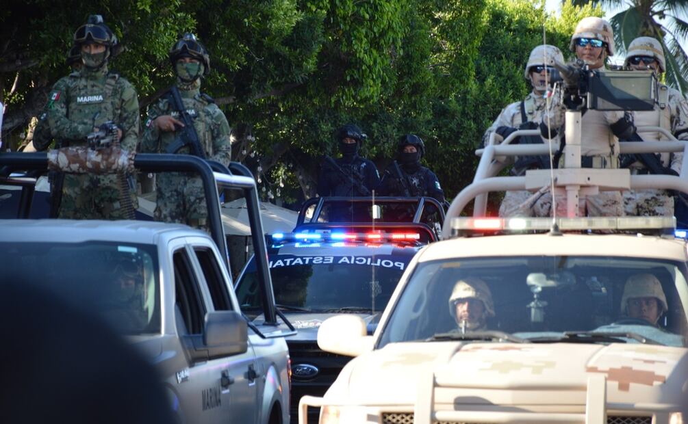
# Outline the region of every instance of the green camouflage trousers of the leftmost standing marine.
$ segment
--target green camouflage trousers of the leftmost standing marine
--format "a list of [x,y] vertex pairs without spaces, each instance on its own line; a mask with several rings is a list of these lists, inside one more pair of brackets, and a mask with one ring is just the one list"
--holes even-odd
[[[136,193],[129,191],[129,196],[136,210]],[[117,175],[66,174],[58,218],[128,219],[120,200]]]

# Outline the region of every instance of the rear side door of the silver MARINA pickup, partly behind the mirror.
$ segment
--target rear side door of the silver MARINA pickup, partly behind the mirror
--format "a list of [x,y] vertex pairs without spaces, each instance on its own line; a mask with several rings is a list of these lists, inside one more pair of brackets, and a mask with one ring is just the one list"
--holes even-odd
[[[231,287],[228,273],[220,265],[215,249],[207,242],[201,244],[200,241],[199,244],[193,243],[193,251],[206,280],[215,311],[236,310],[234,293],[228,289]],[[248,333],[252,333],[250,328]],[[264,371],[258,368],[251,338],[249,337],[246,353],[227,358],[229,385],[223,390],[229,394],[230,423],[255,423],[262,403],[258,394],[263,392]]]

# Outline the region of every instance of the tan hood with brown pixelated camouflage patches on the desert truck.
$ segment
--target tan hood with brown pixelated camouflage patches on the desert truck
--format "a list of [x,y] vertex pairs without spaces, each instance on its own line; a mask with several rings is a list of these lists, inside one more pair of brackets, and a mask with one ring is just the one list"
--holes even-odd
[[[466,392],[468,404],[583,405],[588,376],[603,375],[608,402],[679,405],[687,353],[646,344],[398,343],[351,361],[331,390],[345,379],[353,403],[413,404],[419,378],[435,372],[468,387],[453,389],[451,402]],[[552,382],[581,389],[552,396]]]

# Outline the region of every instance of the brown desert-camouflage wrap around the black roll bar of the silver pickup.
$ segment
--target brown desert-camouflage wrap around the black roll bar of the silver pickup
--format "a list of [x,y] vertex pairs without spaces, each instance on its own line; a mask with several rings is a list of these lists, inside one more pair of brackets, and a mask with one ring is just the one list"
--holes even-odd
[[93,150],[87,147],[66,147],[47,153],[49,170],[70,174],[116,174],[133,173],[136,153],[119,146]]

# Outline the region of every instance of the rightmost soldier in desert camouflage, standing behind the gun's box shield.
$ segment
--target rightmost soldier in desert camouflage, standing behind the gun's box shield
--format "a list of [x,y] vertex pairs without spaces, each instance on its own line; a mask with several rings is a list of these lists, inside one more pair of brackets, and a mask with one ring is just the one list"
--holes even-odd
[[[664,49],[659,41],[651,37],[638,37],[627,49],[624,65],[633,70],[653,69],[659,77],[666,69]],[[668,130],[678,140],[688,140],[688,102],[681,93],[660,84],[658,105],[654,111],[636,111],[636,126],[659,126]],[[645,141],[665,141],[661,133],[638,131]],[[629,166],[633,175],[649,173],[641,161],[626,158],[622,166]],[[660,161],[668,175],[678,175],[683,153],[662,153]],[[623,192],[624,210],[627,215],[674,216],[674,198],[667,190],[626,190]]]

